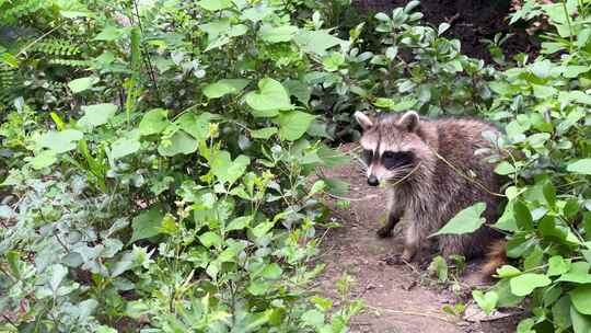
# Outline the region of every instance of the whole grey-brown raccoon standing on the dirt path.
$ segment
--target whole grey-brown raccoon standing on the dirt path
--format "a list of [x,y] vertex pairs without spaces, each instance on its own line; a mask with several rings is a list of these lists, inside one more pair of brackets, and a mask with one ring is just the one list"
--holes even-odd
[[[495,193],[502,180],[494,173],[495,165],[475,154],[491,148],[483,133],[498,134],[495,126],[475,119],[430,119],[414,111],[374,119],[357,112],[355,117],[363,128],[368,184],[387,188],[387,219],[378,236],[390,237],[398,221],[407,223],[396,262],[413,261],[427,248],[430,234],[477,202],[486,203],[486,220],[496,220],[500,202]],[[485,275],[505,262],[501,234],[486,225],[470,234],[439,236],[437,243],[444,257],[488,255],[482,267]]]

